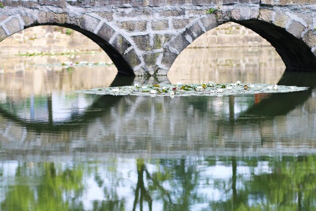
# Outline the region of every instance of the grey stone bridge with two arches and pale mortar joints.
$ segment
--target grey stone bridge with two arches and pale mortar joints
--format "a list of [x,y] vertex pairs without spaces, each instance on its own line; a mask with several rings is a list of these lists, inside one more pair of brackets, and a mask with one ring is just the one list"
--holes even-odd
[[287,69],[316,70],[315,0],[3,0],[0,40],[59,25],[91,38],[130,75],[166,75],[194,39],[233,21],[266,38]]

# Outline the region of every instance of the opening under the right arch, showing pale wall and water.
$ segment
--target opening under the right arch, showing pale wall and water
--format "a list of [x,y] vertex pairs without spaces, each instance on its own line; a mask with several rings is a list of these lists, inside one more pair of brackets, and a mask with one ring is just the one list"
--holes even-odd
[[234,22],[208,30],[187,46],[173,63],[172,83],[277,83],[285,70],[274,47],[259,34]]

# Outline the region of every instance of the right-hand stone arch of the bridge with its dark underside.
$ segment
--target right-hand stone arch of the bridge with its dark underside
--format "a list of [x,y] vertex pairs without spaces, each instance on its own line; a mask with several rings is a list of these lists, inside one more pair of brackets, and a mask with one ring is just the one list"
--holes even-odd
[[262,9],[253,14],[248,11],[246,14],[243,16],[240,10],[216,11],[191,22],[165,45],[161,68],[168,71],[181,51],[194,39],[232,21],[267,39],[282,58],[286,70],[316,71],[316,32],[312,22],[307,23],[303,17],[290,11]]

